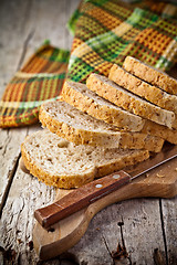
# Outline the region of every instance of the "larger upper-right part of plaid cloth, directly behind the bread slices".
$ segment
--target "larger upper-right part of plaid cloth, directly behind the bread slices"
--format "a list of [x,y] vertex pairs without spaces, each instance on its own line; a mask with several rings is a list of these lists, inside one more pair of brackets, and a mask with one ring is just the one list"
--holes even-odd
[[164,2],[145,1],[134,8],[117,0],[85,1],[74,14],[75,26],[72,19],[75,35],[67,78],[85,82],[92,72],[107,76],[127,55],[170,70],[177,61],[176,12],[177,7]]

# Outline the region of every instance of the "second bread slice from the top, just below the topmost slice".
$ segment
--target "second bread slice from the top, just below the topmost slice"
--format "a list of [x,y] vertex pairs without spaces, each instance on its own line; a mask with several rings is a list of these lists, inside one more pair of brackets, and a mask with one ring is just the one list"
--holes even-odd
[[148,102],[177,114],[177,96],[170,95],[160,88],[139,80],[121,66],[114,64],[110,71],[108,78]]

